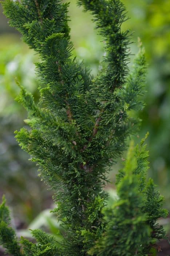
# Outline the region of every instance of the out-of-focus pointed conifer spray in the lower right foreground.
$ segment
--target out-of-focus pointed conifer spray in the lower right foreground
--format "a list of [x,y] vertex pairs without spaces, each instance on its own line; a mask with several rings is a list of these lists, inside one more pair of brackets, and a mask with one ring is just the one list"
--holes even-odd
[[[163,197],[153,180],[146,181],[149,155],[143,146],[145,139],[135,148],[131,143],[124,169],[117,175],[119,199],[104,209],[107,226],[90,255],[145,256],[151,255],[151,248],[161,249],[155,241],[166,238],[166,233],[156,221],[166,218],[168,212],[162,208]],[[87,234],[84,232],[85,237]]]

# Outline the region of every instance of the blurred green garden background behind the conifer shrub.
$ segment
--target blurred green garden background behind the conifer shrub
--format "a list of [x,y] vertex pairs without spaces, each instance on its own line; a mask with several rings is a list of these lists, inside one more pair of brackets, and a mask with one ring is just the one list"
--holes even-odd
[[[165,207],[170,210],[170,0],[123,2],[130,17],[123,29],[133,32],[131,52],[137,53],[137,38],[140,37],[148,63],[146,107],[138,113],[142,124],[139,136],[134,139],[139,142],[147,131],[150,132],[147,140],[150,151],[148,176],[158,185],[165,197]],[[90,14],[82,12],[76,6],[76,0],[70,4],[70,26],[74,55],[84,59],[95,76],[104,52],[103,42],[94,30]],[[17,145],[13,134],[25,126],[23,120],[27,117],[23,107],[14,100],[19,92],[15,77],[37,100],[39,84],[33,64],[36,61],[39,61],[38,55],[22,42],[15,29],[8,26],[0,6],[0,197],[5,193],[16,229],[24,232],[30,226],[46,226],[55,233],[58,226],[46,210],[52,208],[52,192],[47,191],[39,180],[37,167],[28,161],[29,156]],[[114,189],[115,174],[120,165],[118,159],[110,173],[112,185],[107,189]],[[114,190],[111,193],[114,197]],[[162,223],[168,232],[169,219]],[[159,255],[167,253],[160,252]]]

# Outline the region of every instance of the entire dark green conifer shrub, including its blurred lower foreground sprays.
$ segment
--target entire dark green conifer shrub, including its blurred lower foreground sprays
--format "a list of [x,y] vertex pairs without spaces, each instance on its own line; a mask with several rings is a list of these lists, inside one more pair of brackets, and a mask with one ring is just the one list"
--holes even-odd
[[95,78],[72,57],[68,3],[2,2],[9,24],[41,59],[36,63],[41,83],[38,105],[19,84],[17,100],[28,111],[25,123],[30,129],[16,131],[16,138],[39,166],[41,179],[55,191],[54,212],[65,233],[59,244],[55,237],[34,230],[37,244],[21,238],[20,249],[3,202],[0,242],[12,255],[149,255],[154,239],[165,238],[156,221],[167,212],[153,181],[145,180],[148,153],[142,144],[134,155],[130,148],[117,178],[119,199],[111,209],[106,208],[103,191],[107,172],[126,149],[127,136],[138,127],[132,112],[143,108],[144,50],[140,46],[129,74],[130,36],[121,30],[126,21],[123,4],[119,0],[79,0],[78,4],[94,15],[105,42],[103,67]]

